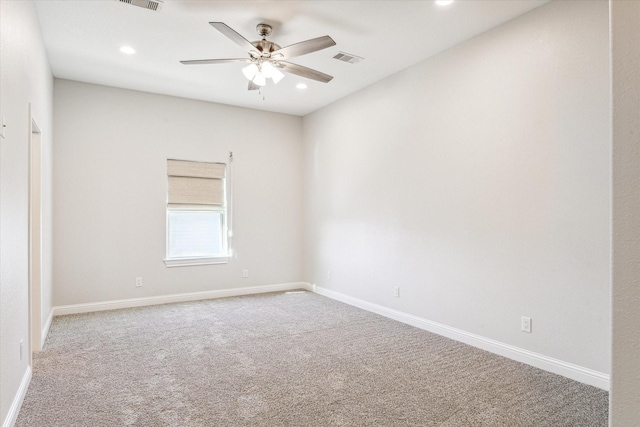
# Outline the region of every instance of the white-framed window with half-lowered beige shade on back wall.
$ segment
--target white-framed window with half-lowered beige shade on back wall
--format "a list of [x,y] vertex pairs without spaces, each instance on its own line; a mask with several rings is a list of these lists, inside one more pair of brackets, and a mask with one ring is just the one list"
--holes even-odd
[[227,165],[167,160],[168,267],[229,261]]

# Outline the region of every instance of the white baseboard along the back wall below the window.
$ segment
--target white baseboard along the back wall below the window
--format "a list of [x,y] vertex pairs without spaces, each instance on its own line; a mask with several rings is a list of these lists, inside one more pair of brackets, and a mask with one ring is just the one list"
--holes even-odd
[[290,291],[304,288],[301,282],[280,283],[276,285],[250,286],[245,288],[221,289],[216,291],[191,292],[184,294],[161,295],[146,298],[130,298],[113,301],[90,302],[53,307],[54,316],[65,314],[89,313],[92,311],[117,310],[120,308],[144,307],[148,305],[170,304],[174,302],[200,301],[205,299],[235,297],[241,295],[261,294],[266,292]]

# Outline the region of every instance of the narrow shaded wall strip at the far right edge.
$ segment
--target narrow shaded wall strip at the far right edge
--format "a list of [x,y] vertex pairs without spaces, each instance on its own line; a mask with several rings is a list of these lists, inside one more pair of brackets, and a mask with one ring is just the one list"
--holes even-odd
[[640,420],[640,3],[611,2],[613,283],[610,425]]

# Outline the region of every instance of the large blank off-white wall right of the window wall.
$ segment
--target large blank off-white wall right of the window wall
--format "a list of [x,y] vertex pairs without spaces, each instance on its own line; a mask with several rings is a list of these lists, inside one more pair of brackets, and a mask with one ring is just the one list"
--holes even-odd
[[608,373],[608,58],[552,2],[305,117],[305,280]]

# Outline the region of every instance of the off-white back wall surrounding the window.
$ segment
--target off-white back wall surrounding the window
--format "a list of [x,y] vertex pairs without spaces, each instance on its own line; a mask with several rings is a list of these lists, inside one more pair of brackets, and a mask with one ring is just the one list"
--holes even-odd
[[[301,280],[300,117],[57,79],[54,106],[55,306]],[[165,267],[166,160],[229,151],[237,259]]]

